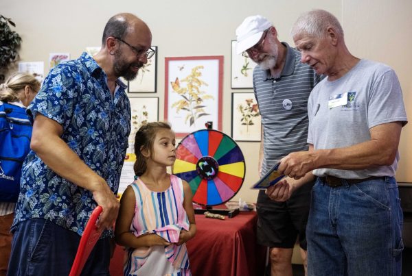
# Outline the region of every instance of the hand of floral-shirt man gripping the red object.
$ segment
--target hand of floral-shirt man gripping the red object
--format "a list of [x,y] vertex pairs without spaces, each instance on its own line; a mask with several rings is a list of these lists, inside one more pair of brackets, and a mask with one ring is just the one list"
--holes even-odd
[[96,203],[103,208],[102,216],[100,216],[97,223],[98,229],[100,231],[111,229],[115,224],[117,214],[119,214],[119,201],[117,201],[113,192],[108,188],[106,181],[102,178],[93,185],[91,192],[93,192],[93,198]]

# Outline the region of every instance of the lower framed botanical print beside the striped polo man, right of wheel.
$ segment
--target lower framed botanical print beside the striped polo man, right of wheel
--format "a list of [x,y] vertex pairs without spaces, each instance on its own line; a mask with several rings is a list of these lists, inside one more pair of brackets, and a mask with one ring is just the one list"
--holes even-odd
[[253,92],[233,92],[231,137],[239,142],[260,142],[262,122]]

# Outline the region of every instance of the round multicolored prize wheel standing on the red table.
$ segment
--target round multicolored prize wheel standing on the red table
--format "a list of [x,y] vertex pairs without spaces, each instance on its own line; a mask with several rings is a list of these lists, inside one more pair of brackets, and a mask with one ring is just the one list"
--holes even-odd
[[173,174],[189,183],[195,203],[213,206],[229,201],[240,190],[245,171],[240,147],[220,131],[194,131],[176,148]]

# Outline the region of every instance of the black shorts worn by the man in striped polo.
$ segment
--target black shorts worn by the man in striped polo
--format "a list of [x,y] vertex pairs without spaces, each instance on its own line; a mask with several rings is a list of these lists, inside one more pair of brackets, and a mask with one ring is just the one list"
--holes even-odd
[[268,198],[260,190],[256,210],[258,211],[258,243],[266,247],[293,248],[297,236],[300,247],[306,250],[306,223],[310,208],[310,191],[313,183],[295,190],[286,202]]

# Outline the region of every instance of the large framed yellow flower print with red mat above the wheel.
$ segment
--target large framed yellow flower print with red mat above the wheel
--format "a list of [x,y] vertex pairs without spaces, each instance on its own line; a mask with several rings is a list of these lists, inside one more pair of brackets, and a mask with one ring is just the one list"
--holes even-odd
[[211,122],[222,130],[223,56],[165,58],[165,120],[176,137]]

